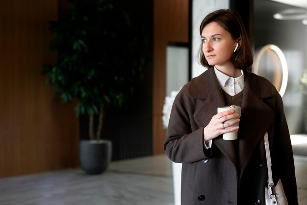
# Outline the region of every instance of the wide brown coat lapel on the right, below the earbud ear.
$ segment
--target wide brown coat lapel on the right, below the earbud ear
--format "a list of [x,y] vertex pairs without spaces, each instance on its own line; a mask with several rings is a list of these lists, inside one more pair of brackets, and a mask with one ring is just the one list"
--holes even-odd
[[[239,128],[239,155],[241,174],[248,164],[257,144],[274,121],[274,111],[263,99],[274,96],[265,85],[258,83],[251,73],[245,73]],[[259,91],[265,91],[259,93]],[[264,145],[263,145],[264,146]]]

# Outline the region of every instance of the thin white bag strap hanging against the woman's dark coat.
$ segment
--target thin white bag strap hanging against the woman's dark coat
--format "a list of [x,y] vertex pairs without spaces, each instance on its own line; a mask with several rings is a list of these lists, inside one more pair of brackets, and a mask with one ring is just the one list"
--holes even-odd
[[270,198],[272,200],[272,203],[274,205],[277,205],[276,201],[276,194],[274,193],[273,187],[274,187],[274,182],[273,182],[273,176],[272,176],[272,162],[271,162],[271,154],[270,154],[270,146],[269,146],[269,136],[268,132],[265,132],[264,134],[264,146],[265,146],[265,154],[266,154],[266,162],[268,165],[268,175],[269,175],[269,180],[268,180],[268,188],[270,190]]

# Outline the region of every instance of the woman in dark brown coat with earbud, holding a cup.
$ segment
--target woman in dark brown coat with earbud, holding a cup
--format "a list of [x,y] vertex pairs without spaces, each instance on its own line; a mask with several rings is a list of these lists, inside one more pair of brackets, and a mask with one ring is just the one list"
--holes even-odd
[[[208,67],[184,85],[171,112],[164,150],[182,163],[181,205],[264,205],[268,131],[273,177],[289,205],[297,205],[294,161],[281,96],[265,78],[248,71],[253,54],[242,19],[232,10],[208,14],[200,26],[200,63]],[[233,110],[241,106],[240,119]],[[236,126],[228,128],[236,123]],[[222,134],[238,131],[237,140]]]

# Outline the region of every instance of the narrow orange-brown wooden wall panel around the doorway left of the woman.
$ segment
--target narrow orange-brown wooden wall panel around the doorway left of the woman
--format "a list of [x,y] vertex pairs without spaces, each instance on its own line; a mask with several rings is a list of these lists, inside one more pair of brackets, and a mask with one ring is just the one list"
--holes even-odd
[[166,95],[166,47],[168,42],[188,43],[189,0],[153,1],[153,154],[164,153],[162,109]]

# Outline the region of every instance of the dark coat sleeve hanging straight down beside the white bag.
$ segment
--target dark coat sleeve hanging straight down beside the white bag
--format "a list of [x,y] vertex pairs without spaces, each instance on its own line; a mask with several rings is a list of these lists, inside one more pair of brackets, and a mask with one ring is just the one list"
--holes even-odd
[[291,139],[283,112],[281,96],[277,93],[272,152],[274,179],[281,179],[289,205],[298,205],[297,184]]

